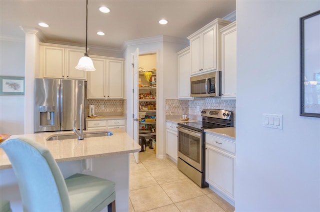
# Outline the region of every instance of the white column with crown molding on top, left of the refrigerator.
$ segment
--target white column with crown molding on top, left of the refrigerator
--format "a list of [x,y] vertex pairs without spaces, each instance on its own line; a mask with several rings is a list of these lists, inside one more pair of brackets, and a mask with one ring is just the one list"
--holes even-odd
[[24,134],[34,132],[34,78],[39,73],[39,29],[20,26],[25,33]]

